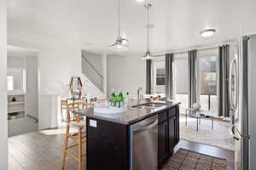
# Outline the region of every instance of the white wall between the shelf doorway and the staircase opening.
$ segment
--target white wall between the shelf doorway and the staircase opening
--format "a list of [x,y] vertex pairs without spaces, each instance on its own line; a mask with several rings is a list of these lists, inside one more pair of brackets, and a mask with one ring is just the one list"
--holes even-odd
[[102,93],[82,75],[81,48],[55,46],[38,52],[39,129],[57,127],[60,99],[69,97],[68,83],[73,76],[82,77],[84,94],[101,98]]

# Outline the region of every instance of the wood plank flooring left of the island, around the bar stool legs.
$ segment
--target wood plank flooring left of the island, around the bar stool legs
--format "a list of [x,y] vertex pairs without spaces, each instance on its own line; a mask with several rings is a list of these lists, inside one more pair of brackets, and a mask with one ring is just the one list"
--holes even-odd
[[[53,131],[55,133],[48,130],[9,138],[9,170],[60,170],[64,133]],[[76,149],[72,151],[78,153]],[[65,169],[77,169],[77,165],[77,161],[67,156]]]

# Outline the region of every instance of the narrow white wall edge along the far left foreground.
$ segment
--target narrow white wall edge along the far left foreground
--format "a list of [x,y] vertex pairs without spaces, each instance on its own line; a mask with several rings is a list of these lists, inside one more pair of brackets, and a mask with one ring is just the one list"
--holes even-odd
[[8,143],[7,143],[7,57],[6,57],[6,0],[0,1],[0,169],[8,169]]

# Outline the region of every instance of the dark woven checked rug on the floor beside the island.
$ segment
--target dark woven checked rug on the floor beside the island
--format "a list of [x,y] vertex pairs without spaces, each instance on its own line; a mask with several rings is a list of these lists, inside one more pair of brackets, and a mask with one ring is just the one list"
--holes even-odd
[[194,151],[179,149],[162,170],[226,170],[227,161]]

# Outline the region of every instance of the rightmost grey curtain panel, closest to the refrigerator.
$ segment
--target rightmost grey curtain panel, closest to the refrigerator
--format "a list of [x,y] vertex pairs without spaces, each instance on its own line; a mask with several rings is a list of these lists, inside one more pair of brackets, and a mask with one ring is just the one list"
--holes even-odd
[[230,45],[218,48],[218,116],[230,116],[229,102]]

